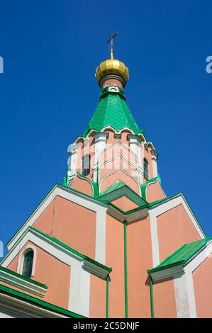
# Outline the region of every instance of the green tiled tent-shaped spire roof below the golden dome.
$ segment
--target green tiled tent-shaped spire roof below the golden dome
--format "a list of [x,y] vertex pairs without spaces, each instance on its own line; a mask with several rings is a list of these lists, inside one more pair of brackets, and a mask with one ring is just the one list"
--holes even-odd
[[135,123],[133,115],[125,103],[124,92],[119,88],[118,91],[109,91],[109,87],[106,87],[101,91],[99,105],[84,132],[84,136],[90,130],[101,132],[102,128],[106,126],[111,126],[117,132],[127,127],[135,134],[144,134],[143,130],[140,130]]

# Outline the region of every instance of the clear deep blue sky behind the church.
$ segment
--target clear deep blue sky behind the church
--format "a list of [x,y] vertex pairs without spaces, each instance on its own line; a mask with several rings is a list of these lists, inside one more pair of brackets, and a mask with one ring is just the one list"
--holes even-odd
[[211,1],[0,1],[0,239],[62,182],[116,31],[115,56],[130,70],[127,103],[160,155],[164,191],[182,191],[212,235],[211,19]]

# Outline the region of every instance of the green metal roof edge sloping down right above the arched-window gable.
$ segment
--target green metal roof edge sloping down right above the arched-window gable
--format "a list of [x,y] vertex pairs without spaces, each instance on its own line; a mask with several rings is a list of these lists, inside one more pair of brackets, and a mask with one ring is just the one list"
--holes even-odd
[[82,254],[80,252],[78,252],[77,250],[73,249],[72,247],[69,247],[69,245],[63,243],[60,241],[60,239],[57,239],[55,237],[52,237],[48,234],[45,234],[45,232],[42,232],[38,229],[35,229],[35,227],[28,227],[28,229],[30,230],[34,230],[35,232],[38,232],[40,235],[50,239],[52,242],[55,242],[56,244],[60,245],[61,247],[63,247],[64,249],[67,249],[69,252],[72,252],[73,254],[76,254],[77,256],[79,256],[80,258],[82,259],[87,259],[88,261],[90,261],[91,263],[93,264],[96,264],[96,266],[99,266],[101,267],[102,269],[106,269],[108,271],[112,271],[112,268],[111,267],[108,267],[108,266],[105,266],[103,264],[100,264],[98,261],[94,260],[94,259],[91,259],[89,258],[89,256],[86,256],[85,254]]

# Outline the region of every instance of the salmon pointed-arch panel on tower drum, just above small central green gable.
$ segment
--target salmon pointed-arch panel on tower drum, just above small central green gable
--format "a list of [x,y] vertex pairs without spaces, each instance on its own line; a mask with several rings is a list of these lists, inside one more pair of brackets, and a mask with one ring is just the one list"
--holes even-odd
[[101,188],[100,191],[104,191],[105,188],[107,188],[109,185],[113,184],[114,181],[117,181],[117,179],[121,179],[122,181],[125,182],[130,188],[135,191],[135,193],[138,193],[140,196],[140,188],[136,181],[132,179],[130,176],[126,175],[122,170],[118,169],[114,174],[111,174],[108,176],[104,181],[101,182]]

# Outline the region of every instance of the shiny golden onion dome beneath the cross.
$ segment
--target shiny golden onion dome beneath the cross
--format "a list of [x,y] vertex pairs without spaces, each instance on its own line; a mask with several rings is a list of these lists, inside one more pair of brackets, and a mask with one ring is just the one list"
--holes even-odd
[[129,79],[128,67],[126,67],[123,62],[116,59],[105,60],[99,64],[99,67],[96,68],[95,77],[98,84],[100,84],[100,81],[103,77],[108,75],[121,77],[121,79],[124,81],[123,86],[125,86]]

